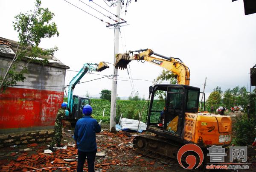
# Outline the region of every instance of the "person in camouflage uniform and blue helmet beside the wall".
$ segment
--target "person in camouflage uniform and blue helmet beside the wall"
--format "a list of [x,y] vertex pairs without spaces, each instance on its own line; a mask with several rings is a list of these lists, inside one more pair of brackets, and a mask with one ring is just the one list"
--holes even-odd
[[55,124],[54,124],[54,137],[52,138],[50,148],[54,147],[55,144],[57,144],[57,147],[61,147],[62,125],[63,125],[61,121],[65,118],[66,107],[67,107],[67,104],[62,103],[61,108],[58,109],[58,113],[57,113]]

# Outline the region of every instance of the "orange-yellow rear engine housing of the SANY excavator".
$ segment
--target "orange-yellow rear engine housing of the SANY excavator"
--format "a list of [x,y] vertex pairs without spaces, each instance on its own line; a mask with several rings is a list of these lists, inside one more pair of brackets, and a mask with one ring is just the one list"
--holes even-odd
[[230,116],[185,113],[183,139],[205,146],[227,145],[231,143],[231,124]]

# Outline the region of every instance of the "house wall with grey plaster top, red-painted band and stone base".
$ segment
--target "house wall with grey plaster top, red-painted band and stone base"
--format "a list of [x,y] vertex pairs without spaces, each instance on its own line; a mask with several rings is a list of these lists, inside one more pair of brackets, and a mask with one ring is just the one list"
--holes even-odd
[[[1,40],[1,39],[0,39]],[[0,42],[1,46],[1,42]],[[2,51],[1,51],[2,50]],[[13,54],[0,47],[0,68],[7,70]],[[25,61],[17,65],[23,68]],[[58,59],[49,64],[30,63],[24,82],[0,93],[0,146],[50,141],[55,117],[64,96],[65,73],[68,66]],[[61,87],[52,87],[62,85]]]

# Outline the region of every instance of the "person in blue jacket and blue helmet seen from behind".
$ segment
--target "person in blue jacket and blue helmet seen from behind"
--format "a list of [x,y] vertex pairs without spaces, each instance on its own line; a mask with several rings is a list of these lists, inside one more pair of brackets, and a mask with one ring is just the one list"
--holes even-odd
[[101,121],[91,117],[93,108],[86,104],[83,107],[84,116],[76,122],[74,139],[78,149],[77,172],[83,172],[87,158],[88,172],[94,172],[94,161],[97,152],[96,133],[101,131]]

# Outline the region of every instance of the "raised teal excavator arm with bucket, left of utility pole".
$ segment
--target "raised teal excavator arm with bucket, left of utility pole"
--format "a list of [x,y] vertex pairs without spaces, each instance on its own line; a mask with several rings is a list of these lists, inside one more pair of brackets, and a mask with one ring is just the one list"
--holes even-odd
[[109,66],[105,62],[100,62],[99,64],[95,63],[85,63],[80,71],[73,77],[68,86],[68,95],[67,95],[67,109],[70,109],[70,113],[73,113],[73,90],[76,87],[76,84],[79,83],[80,79],[90,71],[102,71]]

